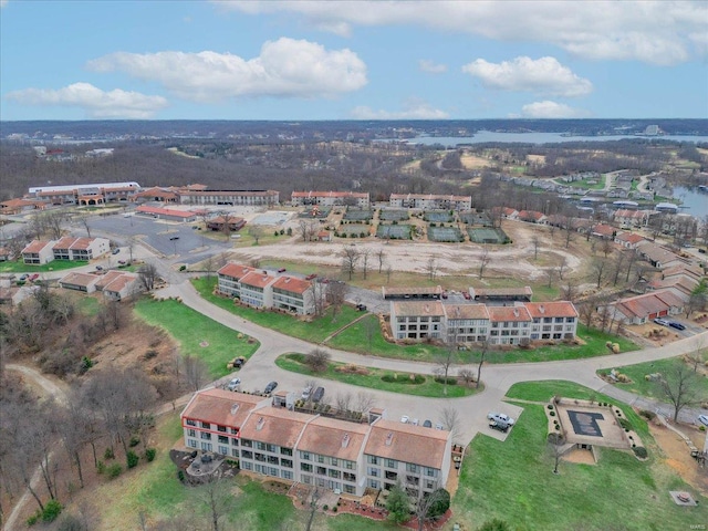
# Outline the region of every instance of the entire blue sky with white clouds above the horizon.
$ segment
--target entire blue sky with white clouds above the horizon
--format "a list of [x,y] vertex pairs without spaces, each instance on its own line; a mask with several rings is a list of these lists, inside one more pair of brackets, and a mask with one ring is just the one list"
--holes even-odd
[[0,119],[708,117],[708,2],[0,0]]

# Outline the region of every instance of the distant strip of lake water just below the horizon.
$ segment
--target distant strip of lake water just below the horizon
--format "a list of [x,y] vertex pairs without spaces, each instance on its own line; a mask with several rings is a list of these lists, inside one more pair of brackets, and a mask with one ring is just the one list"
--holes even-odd
[[458,144],[485,144],[488,142],[513,143],[523,142],[527,144],[551,144],[563,142],[610,142],[624,140],[628,138],[647,138],[652,140],[676,140],[676,142],[708,142],[708,136],[563,136],[563,133],[494,133],[491,131],[480,131],[475,136],[418,136],[408,139],[408,144],[423,144],[430,146],[440,144],[445,147],[455,147]]

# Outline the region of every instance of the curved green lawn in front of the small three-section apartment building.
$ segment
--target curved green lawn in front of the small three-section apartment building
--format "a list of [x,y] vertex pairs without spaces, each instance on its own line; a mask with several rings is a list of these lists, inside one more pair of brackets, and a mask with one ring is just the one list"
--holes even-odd
[[342,312],[337,314],[336,321],[334,322],[332,321],[332,315],[329,312],[323,317],[313,319],[312,322],[304,322],[284,313],[260,311],[253,308],[241,306],[240,304],[236,304],[231,299],[215,295],[214,287],[217,283],[216,277],[211,279],[195,279],[191,282],[201,296],[217,306],[267,329],[277,330],[278,332],[282,332],[304,341],[310,341],[312,343],[323,342],[339,329],[361,316],[361,313],[355,309],[343,306]]

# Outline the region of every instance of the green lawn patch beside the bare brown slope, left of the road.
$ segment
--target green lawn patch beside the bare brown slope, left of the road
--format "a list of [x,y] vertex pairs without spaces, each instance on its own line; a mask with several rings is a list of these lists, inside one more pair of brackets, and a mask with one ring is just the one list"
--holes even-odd
[[[165,329],[180,345],[183,355],[205,361],[212,378],[229,373],[226,364],[236,356],[250,357],[259,346],[249,343],[248,336],[212,321],[180,302],[156,301],[143,298],[135,304],[135,312],[149,324]],[[200,343],[207,342],[207,346]]]

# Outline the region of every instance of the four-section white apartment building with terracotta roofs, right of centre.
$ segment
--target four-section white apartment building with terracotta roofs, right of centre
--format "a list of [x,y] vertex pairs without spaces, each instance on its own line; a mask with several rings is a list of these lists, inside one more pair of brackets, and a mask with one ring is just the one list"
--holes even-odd
[[392,301],[391,330],[404,341],[519,345],[529,341],[571,340],[577,333],[572,302],[514,302],[512,305]]

